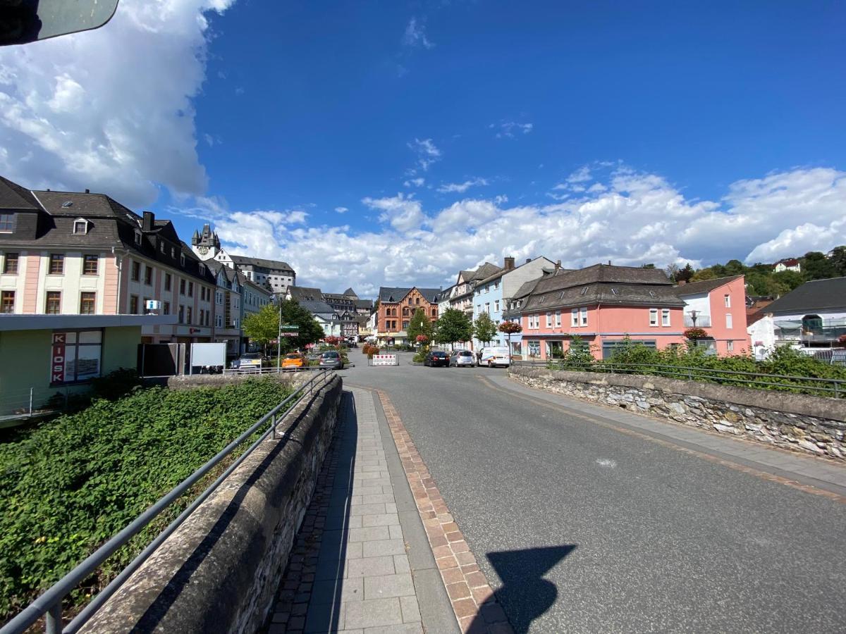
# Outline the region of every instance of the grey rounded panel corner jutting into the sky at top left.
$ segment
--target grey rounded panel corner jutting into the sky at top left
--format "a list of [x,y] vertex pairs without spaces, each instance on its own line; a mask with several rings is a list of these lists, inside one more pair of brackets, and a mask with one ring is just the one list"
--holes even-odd
[[0,46],[99,29],[118,0],[0,0]]

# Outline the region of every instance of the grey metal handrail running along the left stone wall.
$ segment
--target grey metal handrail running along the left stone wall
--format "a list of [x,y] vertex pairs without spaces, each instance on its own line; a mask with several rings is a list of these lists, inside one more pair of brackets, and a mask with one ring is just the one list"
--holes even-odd
[[[62,632],[63,634],[70,634],[71,632],[79,631],[85,623],[91,619],[91,616],[94,615],[97,609],[102,607],[109,597],[115,593],[118,588],[129,578],[129,576],[137,570],[141,564],[143,564],[147,559],[149,559],[150,555],[158,548],[162,542],[168,538],[179,526],[184,522],[184,520],[190,516],[191,512],[194,511],[197,506],[200,506],[201,503],[208,498],[209,495],[214,493],[215,489],[222,483],[222,481],[232,473],[235,468],[237,468],[241,462],[244,462],[247,456],[250,456],[250,453],[261,444],[263,440],[266,440],[268,435],[271,435],[273,439],[276,438],[276,428],[277,424],[284,418],[284,414],[288,413],[294,407],[296,407],[300,401],[302,401],[305,396],[309,396],[313,390],[326,385],[327,377],[332,370],[323,369],[318,374],[312,376],[308,381],[306,381],[303,385],[299,385],[299,387],[294,390],[290,395],[285,397],[282,402],[280,402],[276,407],[273,407],[270,412],[266,413],[264,416],[258,419],[255,424],[250,426],[250,429],[247,429],[238,436],[235,440],[230,442],[228,445],[223,447],[221,451],[218,451],[217,454],[211,459],[209,459],[205,464],[199,467],[194,473],[188,478],[185,478],[181,483],[177,484],[173,489],[171,489],[167,495],[164,495],[162,498],[157,500],[155,504],[150,506],[146,511],[140,514],[140,516],[136,517],[135,520],[129,523],[126,527],[124,527],[121,531],[115,534],[112,538],[110,538],[105,544],[103,544],[100,548],[96,549],[91,555],[85,558],[78,566],[76,566],[72,571],[62,577],[58,582],[54,583],[50,588],[47,589],[44,593],[41,594],[40,597],[36,598],[31,604],[29,604],[25,609],[23,609],[18,615],[14,617],[14,619],[9,620],[8,623],[0,628],[0,634],[20,634],[31,626],[36,620],[39,620],[41,616],[47,616],[47,623],[46,623],[46,631],[47,634],[59,634]],[[320,385],[316,385],[318,381],[321,381]],[[294,401],[294,399],[296,399]],[[293,403],[292,403],[293,401]],[[284,407],[285,405],[289,405],[285,409],[285,412],[277,418],[277,413],[279,410]],[[250,445],[244,453],[242,453],[232,465],[230,465],[221,475],[212,482],[202,493],[197,497],[194,502],[188,506],[179,516],[171,522],[167,528],[165,528],[162,533],[159,533],[157,537],[148,544],[146,549],[142,550],[138,556],[135,557],[132,562],[129,563],[129,566],[126,566],[123,571],[120,572],[118,577],[115,577],[112,582],[110,582],[106,588],[103,588],[100,593],[97,593],[96,597],[91,600],[91,602],[85,606],[85,608],[80,612],[79,615],[76,615],[74,620],[71,620],[67,627],[62,627],[62,601],[63,599],[73,591],[76,586],[80,584],[80,582],[84,581],[86,577],[91,575],[92,572],[96,571],[96,569],[102,564],[103,561],[107,560],[108,557],[113,555],[113,553],[124,546],[129,539],[133,538],[140,530],[146,527],[156,516],[159,515],[162,511],[164,511],[168,506],[173,504],[174,501],[178,500],[191,486],[193,486],[198,480],[200,480],[203,476],[206,475],[213,467],[216,467],[219,462],[222,461],[223,458],[228,456],[232,451],[240,445],[244,440],[250,438],[251,435],[255,434],[255,432],[261,428],[262,424],[265,424],[267,420],[270,419],[271,424],[270,427],[257,439],[255,442]]]

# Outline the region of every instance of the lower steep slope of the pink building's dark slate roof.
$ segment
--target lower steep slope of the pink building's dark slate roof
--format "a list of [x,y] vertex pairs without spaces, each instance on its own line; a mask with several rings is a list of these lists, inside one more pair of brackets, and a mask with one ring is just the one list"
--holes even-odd
[[524,310],[573,308],[602,303],[604,305],[684,306],[673,287],[653,284],[618,284],[600,282],[580,287],[567,287],[549,292],[535,292]]

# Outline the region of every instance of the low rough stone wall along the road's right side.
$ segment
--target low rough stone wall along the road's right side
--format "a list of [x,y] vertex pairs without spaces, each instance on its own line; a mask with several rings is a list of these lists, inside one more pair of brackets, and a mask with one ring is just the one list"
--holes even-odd
[[529,385],[846,462],[846,399],[634,374],[512,368]]

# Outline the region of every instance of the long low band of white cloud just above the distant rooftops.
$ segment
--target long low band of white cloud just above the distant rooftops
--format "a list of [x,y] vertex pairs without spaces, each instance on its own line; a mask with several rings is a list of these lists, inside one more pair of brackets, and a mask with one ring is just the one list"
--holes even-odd
[[773,261],[846,244],[846,172],[834,169],[739,181],[722,200],[685,199],[660,175],[625,168],[603,187],[552,205],[508,206],[499,197],[425,210],[404,194],[366,198],[383,224],[363,232],[295,224],[290,212],[266,211],[231,214],[217,227],[239,253],[290,262],[303,284],[371,294],[380,285],[448,285],[460,269],[507,255],[546,255],[571,267],[607,260],[698,265]]

